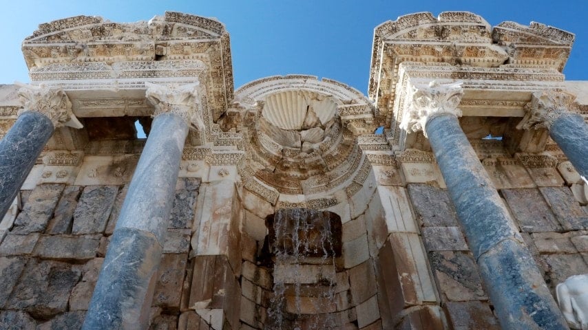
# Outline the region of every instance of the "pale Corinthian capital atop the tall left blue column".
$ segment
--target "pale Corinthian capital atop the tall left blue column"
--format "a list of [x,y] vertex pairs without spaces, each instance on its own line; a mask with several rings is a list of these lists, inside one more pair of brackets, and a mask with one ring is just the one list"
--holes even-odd
[[153,117],[174,113],[184,118],[188,126],[202,131],[204,120],[200,100],[200,83],[187,85],[156,85],[145,83],[147,100],[155,107]]

